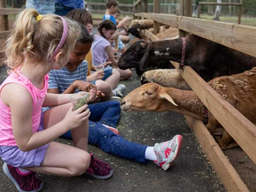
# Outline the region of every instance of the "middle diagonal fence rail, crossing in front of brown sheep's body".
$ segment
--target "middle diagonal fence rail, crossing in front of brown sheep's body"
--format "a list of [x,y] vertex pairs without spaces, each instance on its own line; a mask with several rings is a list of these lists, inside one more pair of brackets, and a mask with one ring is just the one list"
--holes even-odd
[[199,99],[233,137],[247,155],[256,163],[256,126],[210,87],[191,67],[179,69],[172,62]]

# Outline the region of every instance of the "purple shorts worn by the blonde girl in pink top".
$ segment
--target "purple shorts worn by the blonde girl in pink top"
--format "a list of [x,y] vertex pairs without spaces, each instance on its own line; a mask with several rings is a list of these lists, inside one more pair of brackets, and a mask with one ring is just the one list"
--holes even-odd
[[[38,131],[42,130],[44,130],[44,112],[41,113],[38,128]],[[0,146],[0,157],[13,167],[39,167],[44,161],[49,144],[47,143],[31,151],[21,151],[17,146]]]

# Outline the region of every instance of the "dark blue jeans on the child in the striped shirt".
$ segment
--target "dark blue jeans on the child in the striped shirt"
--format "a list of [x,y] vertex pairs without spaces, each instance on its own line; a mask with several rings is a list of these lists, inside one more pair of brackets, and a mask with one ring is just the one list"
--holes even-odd
[[[102,151],[124,159],[148,164],[145,159],[147,145],[130,142],[115,134],[102,124],[116,127],[120,118],[120,104],[117,101],[106,101],[88,105],[91,115],[89,117],[88,143],[99,147]],[[62,137],[72,139],[71,131]]]

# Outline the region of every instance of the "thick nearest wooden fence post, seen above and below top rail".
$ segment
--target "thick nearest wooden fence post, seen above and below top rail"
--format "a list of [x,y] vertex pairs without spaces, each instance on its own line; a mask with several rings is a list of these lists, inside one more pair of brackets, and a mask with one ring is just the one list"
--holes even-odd
[[[192,0],[180,0],[180,16],[192,17]],[[179,30],[179,37],[185,37],[190,33]]]

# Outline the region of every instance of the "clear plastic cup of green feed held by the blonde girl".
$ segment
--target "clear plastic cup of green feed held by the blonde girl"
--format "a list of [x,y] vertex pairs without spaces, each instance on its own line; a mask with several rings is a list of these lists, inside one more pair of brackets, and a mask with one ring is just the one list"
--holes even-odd
[[86,105],[89,97],[90,97],[89,92],[79,92],[79,93],[75,93],[75,94],[71,95],[69,98],[73,105],[73,109],[76,110],[76,109]]

